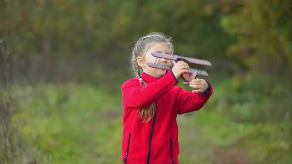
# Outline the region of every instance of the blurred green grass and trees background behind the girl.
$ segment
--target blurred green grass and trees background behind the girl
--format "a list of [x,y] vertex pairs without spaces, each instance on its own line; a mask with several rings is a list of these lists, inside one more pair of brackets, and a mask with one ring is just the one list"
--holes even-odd
[[[1,0],[0,164],[121,164],[135,41],[211,61],[181,164],[292,164],[291,0]],[[181,84],[178,86],[191,91]]]

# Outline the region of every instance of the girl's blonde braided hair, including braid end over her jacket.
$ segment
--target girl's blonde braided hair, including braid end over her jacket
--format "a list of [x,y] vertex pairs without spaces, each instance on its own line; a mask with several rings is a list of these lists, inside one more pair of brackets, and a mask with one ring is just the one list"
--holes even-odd
[[[131,69],[134,72],[134,75],[136,78],[140,78],[141,72],[143,72],[142,68],[137,63],[137,57],[142,57],[144,59],[144,56],[147,52],[147,50],[153,45],[155,42],[164,42],[168,44],[170,48],[171,54],[174,52],[174,48],[171,42],[171,38],[167,37],[163,33],[160,32],[153,32],[146,36],[141,37],[133,47],[132,55],[131,55]],[[145,82],[141,82],[142,86],[145,87],[147,84]],[[155,105],[154,103],[151,104],[149,107],[145,109],[139,110],[139,119],[142,120],[144,123],[148,123],[152,117],[154,116],[155,112]]]

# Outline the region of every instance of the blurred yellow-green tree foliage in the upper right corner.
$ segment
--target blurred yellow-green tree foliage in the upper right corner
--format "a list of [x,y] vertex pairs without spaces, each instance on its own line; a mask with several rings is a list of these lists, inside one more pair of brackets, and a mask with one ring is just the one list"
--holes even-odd
[[228,47],[227,54],[244,65],[251,75],[263,78],[263,83],[272,84],[271,87],[285,86],[273,95],[291,91],[292,87],[291,8],[292,3],[287,0],[244,1],[237,12],[222,17],[226,32],[237,38]]

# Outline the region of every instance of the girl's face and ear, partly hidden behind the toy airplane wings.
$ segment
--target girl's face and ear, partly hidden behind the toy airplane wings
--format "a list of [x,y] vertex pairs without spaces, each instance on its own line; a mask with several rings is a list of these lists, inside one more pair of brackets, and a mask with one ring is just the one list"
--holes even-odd
[[164,58],[157,58],[153,55],[151,55],[151,52],[158,52],[163,54],[171,54],[171,50],[169,48],[169,45],[164,42],[156,42],[148,50],[146,51],[145,56],[137,57],[137,62],[140,67],[143,68],[143,72],[155,77],[155,78],[161,78],[166,74],[166,70],[159,69],[159,68],[152,68],[147,65],[147,63],[158,63],[158,64],[165,64],[165,65],[171,65],[170,60],[164,59]]

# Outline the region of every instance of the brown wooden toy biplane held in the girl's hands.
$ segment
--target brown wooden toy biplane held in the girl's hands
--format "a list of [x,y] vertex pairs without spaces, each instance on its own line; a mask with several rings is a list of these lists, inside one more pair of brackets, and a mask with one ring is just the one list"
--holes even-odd
[[[157,52],[152,52],[151,53],[153,56],[158,57],[158,58],[164,58],[164,59],[170,59],[172,65],[163,65],[159,64],[159,62],[155,63],[147,63],[149,67],[153,68],[160,68],[160,69],[165,69],[165,70],[171,70],[173,65],[180,60],[185,60],[189,63],[194,63],[194,64],[199,64],[199,65],[204,65],[204,66],[212,66],[212,64],[203,59],[196,59],[196,58],[191,58],[191,57],[184,57],[184,56],[178,56],[178,55],[169,55],[169,54],[163,54],[163,53],[157,53]],[[184,79],[185,82],[183,84],[189,85],[189,82],[191,82],[192,79],[195,79],[197,75],[202,75],[202,76],[209,76],[209,74],[204,71],[204,70],[199,70],[199,69],[190,69],[191,76],[188,73],[183,73],[182,78]]]

